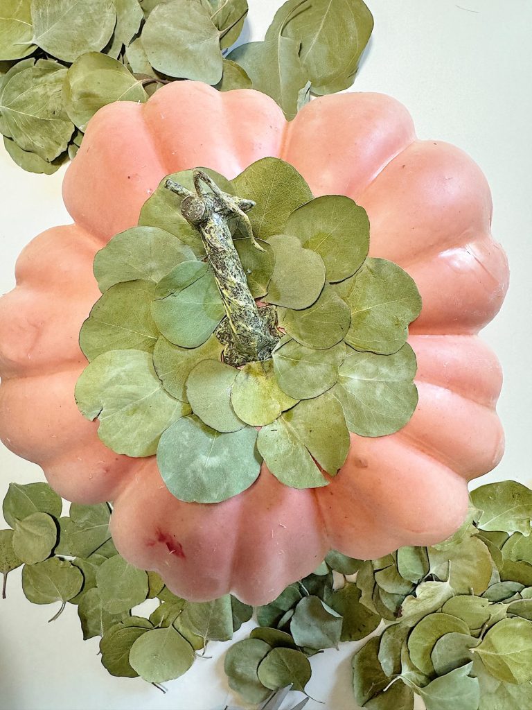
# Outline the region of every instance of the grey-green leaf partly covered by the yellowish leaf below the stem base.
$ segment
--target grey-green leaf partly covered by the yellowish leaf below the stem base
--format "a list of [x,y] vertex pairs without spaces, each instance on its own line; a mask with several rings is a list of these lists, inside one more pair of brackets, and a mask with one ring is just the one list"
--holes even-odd
[[187,399],[192,411],[218,432],[235,432],[245,427],[231,407],[231,388],[237,375],[238,370],[219,360],[203,360],[187,379]]

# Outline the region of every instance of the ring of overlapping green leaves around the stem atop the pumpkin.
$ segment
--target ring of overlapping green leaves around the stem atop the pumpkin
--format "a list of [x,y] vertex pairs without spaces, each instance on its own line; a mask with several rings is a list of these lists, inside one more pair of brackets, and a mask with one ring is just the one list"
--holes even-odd
[[[265,251],[238,225],[233,239],[253,296],[277,307],[286,334],[271,360],[240,369],[221,361],[225,310],[214,274],[201,261],[199,233],[161,186],[140,226],[96,255],[103,295],[80,334],[90,364],[76,387],[79,410],[99,418],[113,451],[157,453],[182,501],[237,495],[262,460],[287,486],[326,486],[348,456],[350,431],[391,434],[414,412],[416,358],[406,337],[421,298],[399,266],[367,256],[367,214],[348,197],[312,199],[277,158],[231,182],[210,173],[256,202],[250,220]],[[172,178],[191,185],[192,171]]]

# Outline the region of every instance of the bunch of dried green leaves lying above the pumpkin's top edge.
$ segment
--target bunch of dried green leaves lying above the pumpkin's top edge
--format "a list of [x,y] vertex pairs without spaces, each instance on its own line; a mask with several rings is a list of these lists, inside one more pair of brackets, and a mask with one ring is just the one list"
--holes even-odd
[[2,0],[0,133],[11,158],[54,173],[89,119],[116,101],[143,103],[180,79],[220,91],[255,88],[292,118],[317,94],[350,85],[372,31],[362,0],[289,0],[264,42],[228,55],[247,0]]

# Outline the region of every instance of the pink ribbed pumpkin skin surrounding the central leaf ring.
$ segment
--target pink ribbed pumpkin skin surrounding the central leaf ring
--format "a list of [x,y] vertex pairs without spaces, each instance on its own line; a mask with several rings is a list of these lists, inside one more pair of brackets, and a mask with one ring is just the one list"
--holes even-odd
[[[233,178],[267,155],[292,163],[316,197],[348,195],[365,207],[370,256],[397,262],[416,281],[423,310],[409,343],[419,405],[394,435],[351,435],[348,460],[325,488],[288,488],[263,464],[235,498],[183,503],[165,488],[155,457],[115,454],[77,410],[74,385],[87,365],[79,329],[100,295],[92,262],[137,224],[168,173],[207,166]],[[492,469],[504,448],[495,413],[501,372],[477,333],[508,285],[489,231],[489,187],[465,153],[417,140],[406,109],[381,94],[315,99],[287,124],[265,94],[174,82],[147,104],[120,102],[94,116],[63,194],[74,224],[26,246],[17,287],[0,300],[0,436],[40,464],[63,497],[113,501],[111,532],[126,559],[157,570],[187,599],[232,591],[261,604],[330,548],[380,557],[458,528],[467,481]]]

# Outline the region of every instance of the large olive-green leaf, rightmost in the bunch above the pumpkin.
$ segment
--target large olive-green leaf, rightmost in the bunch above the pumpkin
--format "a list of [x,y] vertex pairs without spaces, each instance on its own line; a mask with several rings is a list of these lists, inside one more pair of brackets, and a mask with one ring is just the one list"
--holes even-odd
[[372,14],[362,0],[292,0],[277,12],[266,38],[282,31],[301,43],[299,55],[313,92],[331,94],[353,83],[372,30]]

